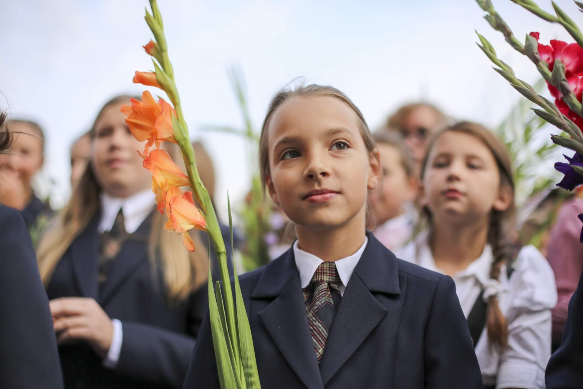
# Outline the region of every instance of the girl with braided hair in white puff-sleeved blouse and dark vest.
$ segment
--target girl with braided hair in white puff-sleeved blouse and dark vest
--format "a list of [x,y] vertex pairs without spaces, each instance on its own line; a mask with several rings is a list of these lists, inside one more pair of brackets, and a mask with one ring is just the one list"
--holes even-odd
[[396,255],[454,279],[484,387],[545,387],[557,294],[543,255],[533,246],[512,250],[507,239],[507,149],[482,125],[459,122],[429,143],[421,181],[424,232]]

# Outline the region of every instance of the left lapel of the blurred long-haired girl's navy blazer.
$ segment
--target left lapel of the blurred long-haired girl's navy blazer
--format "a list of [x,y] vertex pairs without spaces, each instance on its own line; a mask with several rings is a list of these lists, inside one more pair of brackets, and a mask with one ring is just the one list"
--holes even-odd
[[93,216],[83,232],[71,243],[73,272],[83,297],[99,300],[97,285],[97,255],[99,253],[99,212]]

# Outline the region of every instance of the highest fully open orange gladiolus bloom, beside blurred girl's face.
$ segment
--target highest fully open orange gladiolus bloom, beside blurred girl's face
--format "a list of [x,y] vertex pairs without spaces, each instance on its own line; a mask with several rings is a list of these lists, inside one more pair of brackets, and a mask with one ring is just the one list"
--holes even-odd
[[176,143],[172,128],[172,114],[176,111],[170,104],[162,99],[156,103],[147,90],[142,93],[142,101],[131,99],[131,102],[131,106],[122,106],[121,111],[128,115],[125,122],[134,137],[141,142],[148,141],[143,151],[146,156],[154,143],[156,147],[162,141]]

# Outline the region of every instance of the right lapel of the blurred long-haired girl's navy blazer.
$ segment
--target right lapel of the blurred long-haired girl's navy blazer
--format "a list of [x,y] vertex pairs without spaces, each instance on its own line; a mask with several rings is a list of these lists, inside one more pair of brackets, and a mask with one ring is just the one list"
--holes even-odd
[[[126,240],[111,266],[110,274],[101,290],[100,304],[105,306],[129,275],[147,261],[147,240],[152,226],[152,213],[142,222],[132,237]],[[166,232],[163,232],[166,233]]]

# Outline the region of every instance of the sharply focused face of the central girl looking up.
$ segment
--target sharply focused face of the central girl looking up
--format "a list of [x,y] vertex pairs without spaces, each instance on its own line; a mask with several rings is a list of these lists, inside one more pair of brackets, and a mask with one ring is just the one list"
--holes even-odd
[[295,97],[275,111],[268,131],[266,183],[296,229],[364,228],[367,190],[380,167],[356,113],[333,97]]

